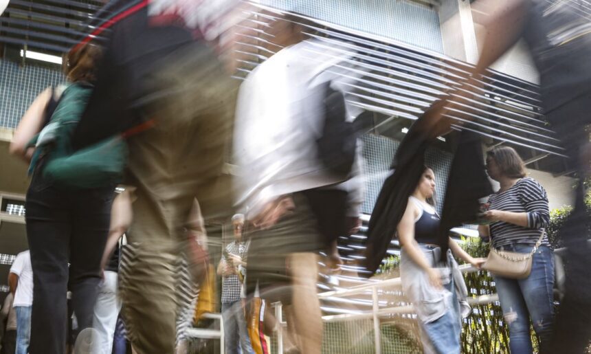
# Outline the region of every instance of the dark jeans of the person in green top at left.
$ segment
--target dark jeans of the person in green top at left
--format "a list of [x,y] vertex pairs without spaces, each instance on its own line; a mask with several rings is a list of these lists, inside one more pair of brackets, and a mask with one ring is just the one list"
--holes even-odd
[[113,193],[114,186],[58,188],[34,175],[25,202],[35,299],[31,354],[65,353],[68,289],[78,329],[92,327]]

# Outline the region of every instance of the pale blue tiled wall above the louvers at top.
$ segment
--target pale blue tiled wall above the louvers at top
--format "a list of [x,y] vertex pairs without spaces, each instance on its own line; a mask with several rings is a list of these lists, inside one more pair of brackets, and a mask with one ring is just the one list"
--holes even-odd
[[260,0],[281,10],[443,53],[438,12],[407,0]]

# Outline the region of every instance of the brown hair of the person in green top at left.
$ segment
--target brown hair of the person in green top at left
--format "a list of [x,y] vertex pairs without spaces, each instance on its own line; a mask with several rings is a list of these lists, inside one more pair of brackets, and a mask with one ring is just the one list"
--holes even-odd
[[86,43],[81,47],[71,49],[65,61],[64,72],[71,82],[96,80],[96,66],[102,55],[97,45]]

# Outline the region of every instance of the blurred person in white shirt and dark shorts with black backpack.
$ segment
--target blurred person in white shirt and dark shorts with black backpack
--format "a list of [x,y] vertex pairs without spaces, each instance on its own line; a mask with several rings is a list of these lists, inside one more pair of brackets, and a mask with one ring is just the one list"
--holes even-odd
[[[358,194],[359,185],[339,185],[358,171],[355,135],[344,142],[350,159],[342,170],[327,166],[319,148],[328,115],[333,113],[339,126],[337,121],[348,113],[337,84],[337,64],[347,55],[304,41],[300,21],[286,16],[265,29],[272,49],[283,49],[256,67],[241,86],[234,154],[240,168],[238,203],[249,210],[247,231],[252,239],[247,291],[252,296],[258,286],[261,298],[287,305],[294,343],[286,344],[286,350],[297,346],[301,353],[313,354],[320,353],[323,331],[316,294],[317,252],[328,249],[331,235],[346,228],[348,202],[359,199],[348,191]],[[341,134],[328,146],[349,137],[346,129],[328,130]],[[332,162],[343,159],[344,150],[332,155]],[[328,217],[332,223],[324,219]]]

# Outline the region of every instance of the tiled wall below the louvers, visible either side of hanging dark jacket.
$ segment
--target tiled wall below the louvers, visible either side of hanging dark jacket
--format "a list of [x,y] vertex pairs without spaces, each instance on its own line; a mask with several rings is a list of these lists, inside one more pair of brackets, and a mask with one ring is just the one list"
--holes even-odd
[[[366,197],[363,206],[361,206],[361,211],[370,214],[383,181],[386,180],[390,173],[392,158],[400,143],[388,137],[366,134],[363,137],[363,144]],[[435,173],[438,212],[441,212],[443,206],[451,158],[451,153],[434,148],[427,149],[427,155],[425,156],[427,166],[433,168]]]

